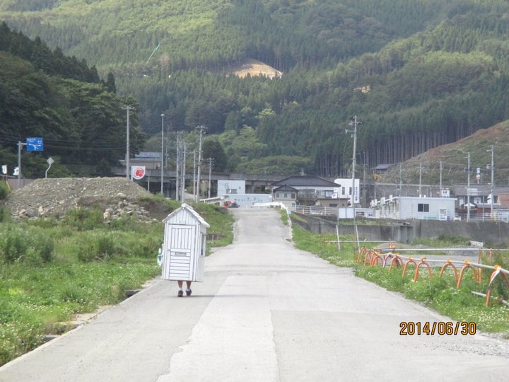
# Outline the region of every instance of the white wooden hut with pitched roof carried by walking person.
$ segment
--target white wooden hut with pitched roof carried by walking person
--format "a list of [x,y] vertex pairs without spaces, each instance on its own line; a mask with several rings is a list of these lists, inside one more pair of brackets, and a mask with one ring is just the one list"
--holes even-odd
[[161,277],[178,282],[177,296],[183,296],[186,282],[187,296],[191,282],[203,282],[206,250],[206,229],[209,224],[188,204],[183,203],[163,219],[165,224],[163,246],[158,255]]

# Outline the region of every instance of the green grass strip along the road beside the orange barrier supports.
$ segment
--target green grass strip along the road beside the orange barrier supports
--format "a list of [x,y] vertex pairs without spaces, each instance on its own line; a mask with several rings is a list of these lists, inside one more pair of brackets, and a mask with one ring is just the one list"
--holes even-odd
[[[284,218],[287,219],[287,218]],[[291,219],[294,219],[293,216]],[[402,293],[407,299],[423,303],[444,316],[460,322],[474,322],[476,328],[484,332],[499,333],[503,338],[509,338],[509,307],[497,301],[491,301],[485,306],[486,299],[474,296],[471,291],[486,293],[491,270],[483,270],[481,283],[475,282],[472,273],[463,278],[461,287],[456,289],[456,282],[451,268],[440,277],[440,269],[433,270],[433,277],[428,272],[421,272],[422,277],[413,282],[414,268],[402,277],[402,269],[397,268],[389,272],[388,267],[363,266],[356,262],[357,253],[353,252],[352,243],[341,243],[338,249],[337,237],[334,234],[318,235],[305,231],[297,224],[293,224],[293,241],[296,248],[307,250],[319,255],[324,260],[339,267],[353,267],[356,276],[374,282],[390,291]],[[352,240],[341,236],[341,240]],[[457,244],[455,238],[433,239],[432,244],[441,247]],[[420,242],[423,243],[422,241]],[[415,256],[419,258],[419,255]],[[509,260],[504,253],[494,253],[492,264],[484,259],[484,264],[498,264],[506,269]],[[493,287],[493,296],[501,296],[508,300],[509,290],[502,280],[498,280]]]

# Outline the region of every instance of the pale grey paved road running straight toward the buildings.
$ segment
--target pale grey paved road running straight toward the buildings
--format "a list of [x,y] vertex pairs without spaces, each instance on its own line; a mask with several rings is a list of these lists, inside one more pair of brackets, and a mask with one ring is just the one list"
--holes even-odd
[[296,250],[273,210],[234,214],[235,242],[206,258],[192,296],[157,280],[0,381],[508,380],[508,341],[401,336],[402,321],[447,318]]

